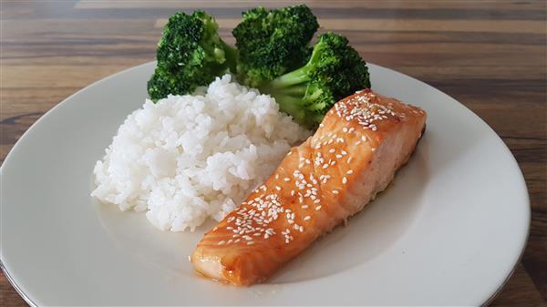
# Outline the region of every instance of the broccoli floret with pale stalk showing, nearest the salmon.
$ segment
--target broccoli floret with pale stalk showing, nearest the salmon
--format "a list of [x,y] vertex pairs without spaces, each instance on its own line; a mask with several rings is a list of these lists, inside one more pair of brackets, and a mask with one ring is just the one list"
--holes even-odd
[[308,62],[259,87],[296,122],[316,128],[335,102],[370,87],[368,69],[345,36],[319,36]]

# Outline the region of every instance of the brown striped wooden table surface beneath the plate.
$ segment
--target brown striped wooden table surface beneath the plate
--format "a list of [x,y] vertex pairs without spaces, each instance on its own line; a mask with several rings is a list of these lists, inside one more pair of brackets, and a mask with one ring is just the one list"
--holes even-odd
[[[153,60],[161,28],[177,10],[209,11],[217,17],[222,36],[232,42],[232,26],[253,3],[4,1],[0,159],[4,161],[23,132],[65,97],[102,77]],[[417,77],[455,97],[511,148],[530,191],[532,229],[521,263],[491,305],[545,305],[545,3],[307,3],[325,29],[345,34],[367,61]],[[2,306],[26,305],[4,275],[0,276],[0,296]]]

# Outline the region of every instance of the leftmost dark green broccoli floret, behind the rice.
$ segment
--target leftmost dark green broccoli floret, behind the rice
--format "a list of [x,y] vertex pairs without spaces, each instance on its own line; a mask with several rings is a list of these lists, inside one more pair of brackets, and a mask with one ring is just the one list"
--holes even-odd
[[182,95],[235,72],[237,52],[224,43],[212,15],[195,11],[171,15],[158,43],[158,64],[148,82],[150,98]]

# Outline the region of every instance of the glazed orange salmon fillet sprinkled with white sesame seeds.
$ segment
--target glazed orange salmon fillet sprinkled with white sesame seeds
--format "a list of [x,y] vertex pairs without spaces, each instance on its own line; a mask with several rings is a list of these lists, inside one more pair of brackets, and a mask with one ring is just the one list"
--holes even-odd
[[195,270],[234,285],[266,280],[386,189],[426,117],[369,89],[338,101],[314,136],[205,233],[191,255]]

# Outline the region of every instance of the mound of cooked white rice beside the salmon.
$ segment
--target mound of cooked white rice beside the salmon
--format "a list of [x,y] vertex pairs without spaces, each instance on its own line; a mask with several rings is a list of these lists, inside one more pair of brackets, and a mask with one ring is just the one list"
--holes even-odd
[[145,211],[160,230],[222,220],[309,136],[274,98],[217,78],[196,96],[147,100],[95,166],[98,200]]

